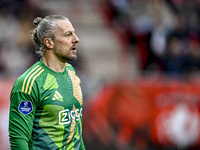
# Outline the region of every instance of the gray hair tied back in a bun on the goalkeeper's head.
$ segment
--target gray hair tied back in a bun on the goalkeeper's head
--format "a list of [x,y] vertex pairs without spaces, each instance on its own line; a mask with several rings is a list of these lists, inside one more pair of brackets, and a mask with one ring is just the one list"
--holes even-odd
[[43,56],[46,51],[46,46],[44,44],[45,38],[51,38],[55,41],[55,33],[57,31],[56,21],[58,20],[69,20],[65,16],[62,15],[50,15],[45,18],[37,17],[33,20],[33,25],[35,28],[31,30],[31,39],[33,42],[39,46],[39,53]]

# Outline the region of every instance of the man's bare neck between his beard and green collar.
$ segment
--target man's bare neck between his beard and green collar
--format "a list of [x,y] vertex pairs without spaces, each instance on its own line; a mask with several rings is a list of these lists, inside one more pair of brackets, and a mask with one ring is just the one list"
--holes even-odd
[[63,72],[65,70],[66,63],[60,61],[57,57],[53,57],[53,55],[45,53],[42,57],[42,61],[47,67],[56,72]]

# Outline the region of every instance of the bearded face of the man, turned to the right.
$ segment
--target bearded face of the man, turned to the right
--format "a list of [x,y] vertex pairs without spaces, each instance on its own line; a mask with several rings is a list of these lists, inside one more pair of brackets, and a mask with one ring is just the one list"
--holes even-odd
[[57,21],[57,31],[55,33],[54,54],[62,62],[74,61],[77,58],[77,43],[79,38],[68,20]]

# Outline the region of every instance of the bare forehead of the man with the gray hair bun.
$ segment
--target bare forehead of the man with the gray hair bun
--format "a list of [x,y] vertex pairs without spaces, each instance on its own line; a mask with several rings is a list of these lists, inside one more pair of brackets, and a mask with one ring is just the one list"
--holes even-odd
[[56,21],[58,32],[74,31],[74,28],[69,20],[58,20]]

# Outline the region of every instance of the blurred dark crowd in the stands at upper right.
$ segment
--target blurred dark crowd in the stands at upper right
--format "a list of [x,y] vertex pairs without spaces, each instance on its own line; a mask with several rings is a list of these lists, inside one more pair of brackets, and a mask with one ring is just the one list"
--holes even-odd
[[[190,75],[200,69],[199,0],[103,0],[104,17],[142,71]],[[127,46],[128,45],[128,46]]]

